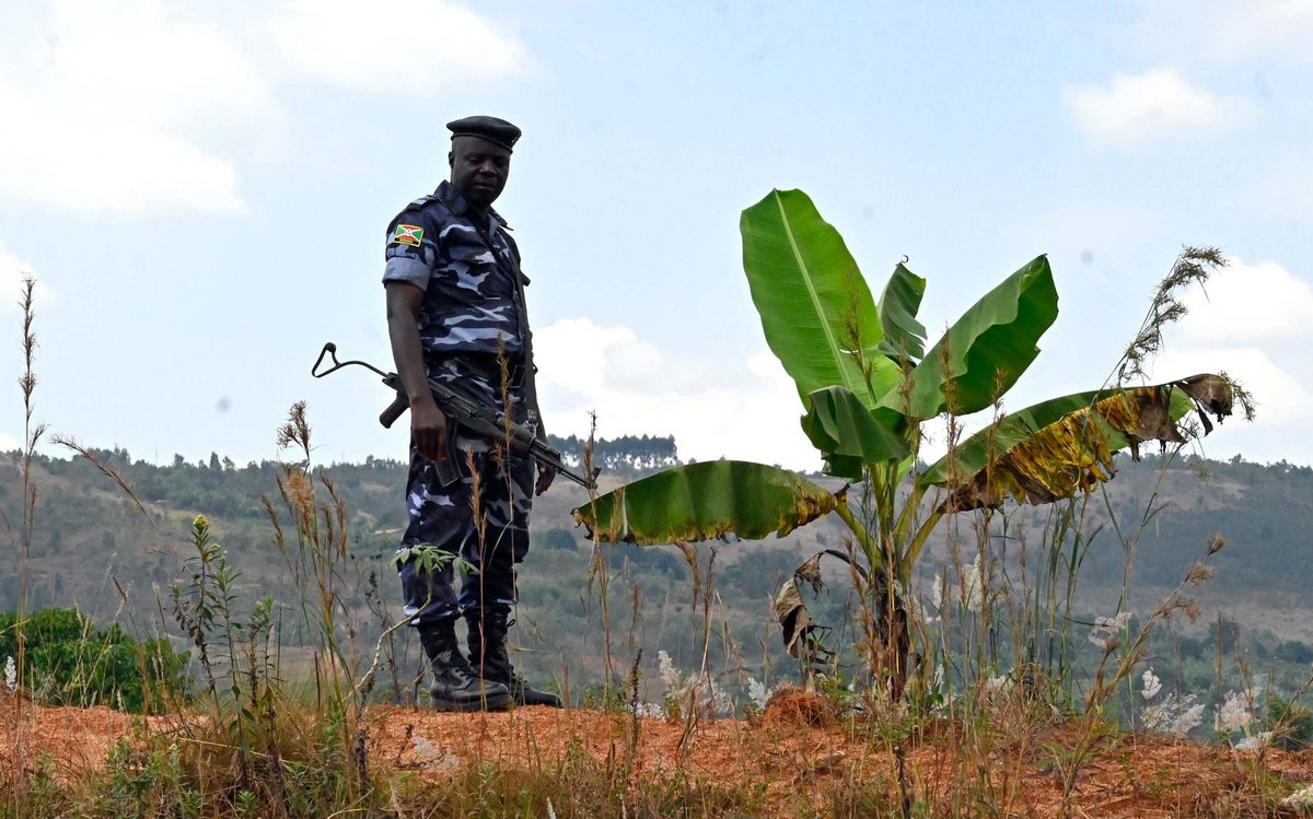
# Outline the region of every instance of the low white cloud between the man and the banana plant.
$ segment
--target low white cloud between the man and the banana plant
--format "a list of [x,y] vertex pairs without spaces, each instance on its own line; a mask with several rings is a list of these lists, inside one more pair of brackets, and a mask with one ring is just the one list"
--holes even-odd
[[[798,428],[793,381],[769,353],[706,370],[668,360],[626,327],[588,319],[562,319],[533,337],[544,413],[555,434],[587,434],[596,412],[599,437],[674,434],[684,459],[821,466]],[[688,371],[699,379],[680,377]]]

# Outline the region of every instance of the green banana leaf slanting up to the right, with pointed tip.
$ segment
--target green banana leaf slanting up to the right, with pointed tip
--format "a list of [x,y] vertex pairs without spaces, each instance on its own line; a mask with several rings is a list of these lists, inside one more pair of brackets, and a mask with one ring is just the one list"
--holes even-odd
[[[1044,256],[1035,259],[962,314],[911,371],[911,390],[880,404],[924,420],[948,410],[969,415],[1016,383],[1058,315],[1058,291]],[[905,394],[906,392],[906,394]]]

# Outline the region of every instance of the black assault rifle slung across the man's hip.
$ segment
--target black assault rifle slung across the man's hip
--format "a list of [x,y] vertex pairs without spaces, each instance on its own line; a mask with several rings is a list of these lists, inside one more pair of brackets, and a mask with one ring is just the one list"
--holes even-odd
[[[319,368],[323,366],[324,356],[328,356],[332,360],[332,366],[319,371]],[[385,373],[366,361],[337,361],[337,345],[332,341],[324,344],[324,348],[319,350],[319,357],[315,358],[315,365],[310,368],[310,374],[315,378],[323,378],[324,375],[336,373],[341,368],[351,365],[358,365],[377,373],[382,377],[385,385],[397,391],[397,398],[393,399],[393,403],[389,404],[387,408],[383,410],[382,415],[378,416],[378,423],[385,428],[390,428],[393,421],[399,419],[402,413],[410,408],[410,398],[406,395],[406,388],[402,386],[400,375],[397,373]],[[597,472],[600,470],[593,470],[592,475],[587,478],[572,471],[569,466],[566,466],[559,452],[542,438],[537,437],[523,424],[516,424],[508,419],[506,412],[471,400],[448,385],[432,378],[428,379],[428,387],[433,391],[433,400],[437,402],[437,407],[442,411],[442,415],[469,432],[486,438],[506,441],[513,454],[528,455],[540,465],[555,470],[586,490],[597,488],[595,479],[597,478]],[[437,470],[439,479],[442,482],[442,486],[452,483],[460,476],[452,458],[439,461]]]

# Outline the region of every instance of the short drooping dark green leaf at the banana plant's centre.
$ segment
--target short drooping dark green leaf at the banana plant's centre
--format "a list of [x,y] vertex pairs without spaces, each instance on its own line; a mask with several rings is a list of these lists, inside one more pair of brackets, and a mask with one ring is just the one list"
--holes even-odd
[[911,454],[905,437],[907,419],[893,410],[867,410],[844,387],[826,387],[807,396],[811,407],[802,430],[821,450],[826,471],[860,480],[868,463],[902,461]]

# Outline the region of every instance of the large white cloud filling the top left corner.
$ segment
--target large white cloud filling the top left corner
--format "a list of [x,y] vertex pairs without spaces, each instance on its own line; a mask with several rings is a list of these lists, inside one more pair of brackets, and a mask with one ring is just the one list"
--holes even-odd
[[58,210],[239,210],[238,173],[197,135],[268,117],[221,29],[159,3],[56,1],[0,62],[0,197]]

